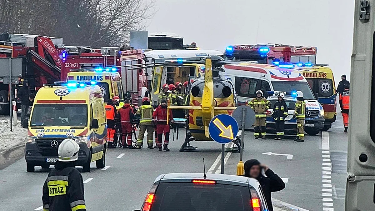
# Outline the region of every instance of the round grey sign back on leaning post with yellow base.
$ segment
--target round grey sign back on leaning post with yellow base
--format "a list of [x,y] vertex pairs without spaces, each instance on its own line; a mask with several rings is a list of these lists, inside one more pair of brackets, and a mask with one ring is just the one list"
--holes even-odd
[[249,106],[241,105],[233,111],[233,118],[236,119],[241,129],[241,151],[240,151],[240,161],[237,164],[237,175],[243,175],[244,163],[243,163],[243,148],[245,140],[245,129],[250,129],[255,122],[255,113]]

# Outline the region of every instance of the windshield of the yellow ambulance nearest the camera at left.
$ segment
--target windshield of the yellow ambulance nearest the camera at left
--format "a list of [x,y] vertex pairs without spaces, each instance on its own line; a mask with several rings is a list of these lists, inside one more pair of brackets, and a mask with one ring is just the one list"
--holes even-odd
[[35,104],[31,126],[87,126],[86,104]]

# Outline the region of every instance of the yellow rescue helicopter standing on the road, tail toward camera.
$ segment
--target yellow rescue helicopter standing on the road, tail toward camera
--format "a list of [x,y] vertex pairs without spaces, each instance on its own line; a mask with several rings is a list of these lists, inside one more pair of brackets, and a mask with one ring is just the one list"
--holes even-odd
[[[174,119],[175,122],[186,125],[186,136],[180,152],[196,150],[197,147],[190,145],[191,141],[213,141],[208,132],[210,121],[219,114],[231,115],[236,109],[237,97],[234,84],[229,78],[224,78],[220,74],[223,71],[220,67],[231,63],[234,62],[224,61],[219,56],[208,56],[202,60],[177,59],[151,66],[132,68],[154,67],[150,99],[157,98],[161,85],[168,83],[168,74],[174,75],[173,79],[188,81],[187,102],[189,105],[171,105],[171,102],[168,102],[168,109],[188,111],[184,121]],[[184,68],[188,69],[184,72]],[[195,68],[195,71],[192,71],[192,68]],[[234,137],[232,142],[237,146],[235,151],[239,152],[240,138]]]

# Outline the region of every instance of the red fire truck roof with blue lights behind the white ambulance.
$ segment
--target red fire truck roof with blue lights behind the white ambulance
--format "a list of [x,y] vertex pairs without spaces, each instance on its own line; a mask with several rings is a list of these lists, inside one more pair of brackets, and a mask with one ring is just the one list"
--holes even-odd
[[282,44],[231,45],[226,47],[226,60],[254,61],[262,64],[279,62],[316,63],[317,47]]

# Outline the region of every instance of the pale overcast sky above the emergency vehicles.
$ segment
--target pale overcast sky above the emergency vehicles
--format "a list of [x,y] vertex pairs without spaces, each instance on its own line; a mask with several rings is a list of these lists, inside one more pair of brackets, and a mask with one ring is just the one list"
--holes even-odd
[[282,43],[318,47],[336,86],[350,79],[354,0],[155,0],[148,32],[172,32],[204,49]]

